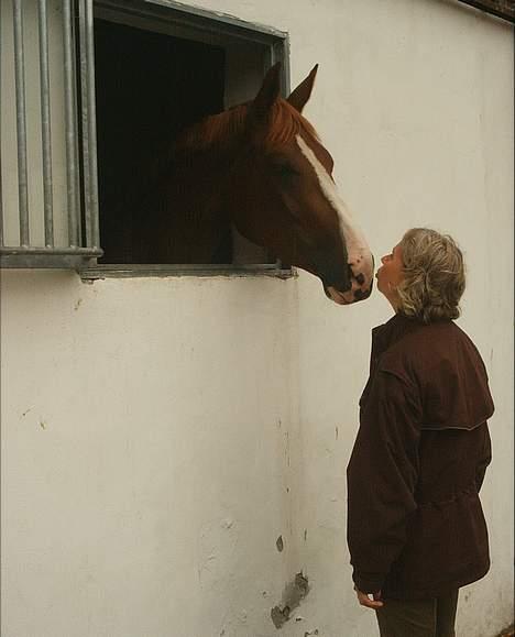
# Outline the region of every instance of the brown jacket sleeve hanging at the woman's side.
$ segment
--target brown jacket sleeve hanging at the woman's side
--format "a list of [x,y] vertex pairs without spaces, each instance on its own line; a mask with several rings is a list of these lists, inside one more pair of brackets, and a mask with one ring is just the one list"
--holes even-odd
[[364,593],[383,586],[416,509],[420,399],[405,380],[379,371],[347,469],[347,538],[352,579]]

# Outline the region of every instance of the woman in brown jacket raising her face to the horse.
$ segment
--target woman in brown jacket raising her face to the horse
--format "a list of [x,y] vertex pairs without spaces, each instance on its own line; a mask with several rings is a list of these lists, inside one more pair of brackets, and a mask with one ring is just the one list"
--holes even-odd
[[454,241],[415,228],[382,264],[377,288],[395,316],[372,332],[347,470],[354,590],[382,637],[451,637],[459,587],[490,567],[478,493],[494,407],[483,361],[453,322],[464,289]]

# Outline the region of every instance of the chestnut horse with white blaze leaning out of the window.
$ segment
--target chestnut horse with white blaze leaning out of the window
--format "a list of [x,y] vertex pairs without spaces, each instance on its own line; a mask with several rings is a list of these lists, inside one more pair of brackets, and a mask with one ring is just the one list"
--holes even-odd
[[283,99],[276,64],[252,101],[178,136],[152,201],[133,221],[133,262],[227,262],[234,224],[283,263],[319,277],[335,303],[369,297],[372,254],[338,194],[330,153],[302,114],[317,69]]

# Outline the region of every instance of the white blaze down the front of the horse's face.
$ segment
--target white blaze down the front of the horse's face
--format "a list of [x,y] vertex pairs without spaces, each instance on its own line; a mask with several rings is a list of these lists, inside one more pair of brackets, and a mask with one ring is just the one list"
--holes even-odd
[[369,287],[373,276],[373,261],[366,240],[360,228],[353,223],[352,215],[343,199],[341,199],[338,194],[336,184],[331,179],[329,173],[303,138],[297,135],[296,139],[303,155],[311,164],[315,174],[318,177],[320,188],[326,196],[326,199],[338,215],[341,238],[344,245],[347,245],[349,265],[351,266],[354,276],[363,274],[365,277],[365,285],[363,287]]

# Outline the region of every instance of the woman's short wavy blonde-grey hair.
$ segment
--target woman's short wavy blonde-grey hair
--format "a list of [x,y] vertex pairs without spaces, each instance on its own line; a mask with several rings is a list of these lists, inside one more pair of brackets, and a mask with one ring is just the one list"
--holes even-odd
[[412,228],[401,240],[404,279],[398,311],[426,323],[456,319],[465,288],[463,254],[448,234]]

